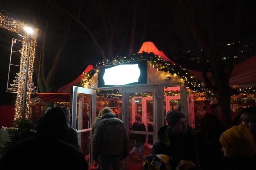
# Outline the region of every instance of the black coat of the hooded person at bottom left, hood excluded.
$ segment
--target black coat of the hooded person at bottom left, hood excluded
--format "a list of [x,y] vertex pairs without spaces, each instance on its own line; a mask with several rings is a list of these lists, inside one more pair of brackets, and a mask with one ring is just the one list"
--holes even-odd
[[17,142],[0,161],[1,170],[88,169],[82,153],[60,139],[40,134]]

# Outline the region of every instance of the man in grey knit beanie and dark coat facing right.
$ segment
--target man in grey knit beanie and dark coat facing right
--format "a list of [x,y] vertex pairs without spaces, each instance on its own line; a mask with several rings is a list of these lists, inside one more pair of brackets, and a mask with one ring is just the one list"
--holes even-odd
[[166,114],[168,127],[162,128],[158,135],[158,140],[152,148],[151,154],[164,154],[173,159],[174,166],[177,167],[181,160],[189,160],[197,163],[197,146],[195,138],[188,134],[187,119],[184,114],[170,110]]

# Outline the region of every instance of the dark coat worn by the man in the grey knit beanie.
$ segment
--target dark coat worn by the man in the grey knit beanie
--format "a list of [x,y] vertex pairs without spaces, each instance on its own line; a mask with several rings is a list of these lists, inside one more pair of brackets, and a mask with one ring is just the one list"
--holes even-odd
[[195,138],[190,135],[176,135],[168,127],[163,127],[166,131],[162,134],[158,133],[158,140],[152,148],[151,154],[164,154],[173,159],[174,166],[177,167],[181,160],[190,160],[197,163],[197,144]]

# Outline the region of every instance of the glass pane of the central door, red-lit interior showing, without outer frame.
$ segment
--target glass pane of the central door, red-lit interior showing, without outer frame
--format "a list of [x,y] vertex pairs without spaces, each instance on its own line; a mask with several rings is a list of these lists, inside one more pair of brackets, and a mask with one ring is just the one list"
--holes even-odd
[[130,153],[133,156],[133,159],[128,158],[129,169],[142,168],[143,157],[151,153],[153,146],[153,122],[152,92],[129,93],[128,132],[130,137]]

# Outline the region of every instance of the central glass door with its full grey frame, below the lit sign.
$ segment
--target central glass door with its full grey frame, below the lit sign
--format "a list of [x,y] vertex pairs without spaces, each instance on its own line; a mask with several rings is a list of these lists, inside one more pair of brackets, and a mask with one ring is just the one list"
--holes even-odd
[[149,155],[158,132],[158,87],[123,88],[123,120],[130,140],[128,169],[142,169],[143,158]]

